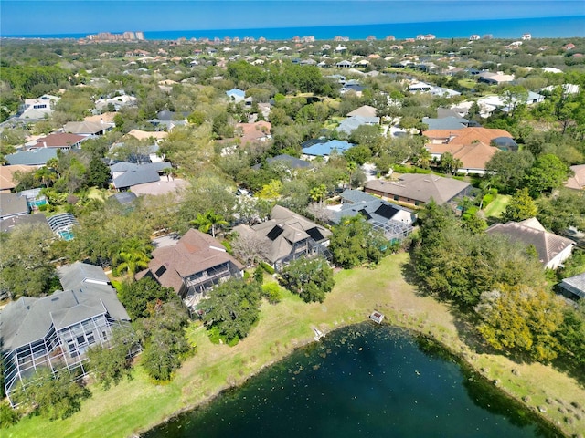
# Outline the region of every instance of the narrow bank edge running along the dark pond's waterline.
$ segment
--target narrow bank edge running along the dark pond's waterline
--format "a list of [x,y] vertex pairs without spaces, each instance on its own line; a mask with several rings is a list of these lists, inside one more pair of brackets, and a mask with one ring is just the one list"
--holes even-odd
[[[372,322],[372,321],[369,321],[368,318],[364,318],[363,321],[356,321],[356,322],[352,321],[352,322],[348,322],[348,323],[342,323],[342,324],[339,324],[337,327],[324,332],[324,335],[326,336],[329,333],[333,333],[334,331],[336,331],[340,328],[357,326],[359,324],[368,323],[368,322]],[[421,339],[424,339],[424,340],[430,342],[433,347],[438,347],[443,352],[447,353],[449,358],[452,359],[453,361],[455,361],[457,363],[457,365],[462,369],[463,373],[472,373],[477,378],[482,379],[485,384],[489,384],[492,387],[493,391],[498,392],[502,397],[505,397],[505,399],[507,399],[508,401],[513,401],[513,402],[516,402],[517,404],[521,405],[522,408],[525,409],[527,412],[529,412],[530,415],[532,415],[537,422],[541,423],[540,424],[541,426],[548,428],[548,430],[552,433],[560,434],[560,436],[565,436],[565,437],[571,436],[571,435],[569,435],[569,433],[562,430],[562,428],[560,428],[558,424],[555,424],[555,422],[552,419],[543,415],[543,412],[539,412],[535,407],[528,405],[522,399],[516,398],[516,396],[511,391],[507,391],[504,386],[496,384],[495,381],[490,380],[489,377],[484,374],[483,370],[477,369],[474,367],[473,362],[468,360],[468,358],[466,357],[466,355],[464,353],[458,354],[456,352],[456,350],[452,348],[452,346],[437,339],[433,334],[431,334],[431,332],[425,333],[424,331],[422,331],[420,329],[410,328],[407,325],[397,325],[396,323],[388,323],[386,321],[382,322],[380,325],[381,326],[388,326],[391,328],[399,328],[399,329],[406,330],[407,332],[409,332],[409,334],[413,338],[421,338]],[[174,421],[178,416],[180,416],[186,412],[191,412],[191,411],[195,411],[197,409],[201,409],[201,408],[206,407],[208,404],[216,401],[218,399],[218,397],[220,397],[223,393],[225,393],[227,391],[238,389],[244,383],[246,383],[247,381],[250,381],[250,379],[252,379],[255,376],[257,376],[258,374],[260,374],[262,370],[270,368],[271,366],[277,364],[278,362],[281,362],[282,360],[288,359],[298,349],[303,349],[304,347],[311,345],[313,343],[317,343],[317,342],[319,342],[319,341],[314,340],[314,339],[310,339],[310,338],[303,339],[301,342],[299,342],[297,345],[295,345],[293,349],[289,349],[288,352],[286,354],[284,354],[281,358],[274,359],[274,360],[271,360],[269,362],[262,364],[258,370],[250,372],[250,374],[247,375],[245,378],[243,378],[241,381],[237,381],[233,385],[227,385],[223,388],[218,389],[218,391],[214,392],[213,394],[210,394],[202,401],[198,401],[198,402],[193,403],[189,406],[181,408],[180,410],[178,410],[177,412],[174,412],[170,416],[165,417],[164,420],[162,420],[161,422],[158,422],[153,427],[150,427],[149,429],[146,429],[146,430],[140,430],[138,433],[133,435],[133,438],[144,437],[144,434],[153,431],[154,429],[164,425],[165,423]],[[573,435],[573,436],[575,436],[575,435]]]

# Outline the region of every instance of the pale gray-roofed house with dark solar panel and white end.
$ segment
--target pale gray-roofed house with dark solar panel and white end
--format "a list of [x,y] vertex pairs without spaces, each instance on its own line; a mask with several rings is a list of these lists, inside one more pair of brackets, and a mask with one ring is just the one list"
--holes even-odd
[[410,210],[359,190],[345,190],[341,193],[341,204],[327,208],[331,210],[331,224],[340,224],[344,217],[361,214],[390,242],[400,241],[410,235],[412,224],[416,221],[416,215]]

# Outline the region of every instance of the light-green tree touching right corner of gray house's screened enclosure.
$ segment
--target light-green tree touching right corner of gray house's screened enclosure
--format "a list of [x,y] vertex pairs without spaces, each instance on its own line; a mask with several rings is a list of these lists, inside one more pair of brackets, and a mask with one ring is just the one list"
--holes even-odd
[[88,350],[90,367],[96,381],[104,390],[117,385],[124,378],[132,379],[132,354],[139,341],[130,325],[112,329],[112,347],[97,345]]

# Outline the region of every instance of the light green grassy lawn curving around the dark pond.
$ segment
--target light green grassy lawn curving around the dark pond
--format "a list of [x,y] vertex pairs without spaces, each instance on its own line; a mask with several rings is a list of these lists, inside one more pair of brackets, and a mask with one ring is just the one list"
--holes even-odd
[[[136,367],[132,381],[124,381],[110,391],[91,386],[93,397],[84,401],[80,412],[69,419],[57,422],[38,417],[23,419],[16,427],[3,431],[2,436],[103,438],[139,433],[173,412],[208,401],[218,391],[238,385],[264,366],[281,360],[292,349],[312,341],[313,326],[326,333],[365,320],[373,309],[384,313],[391,324],[433,334],[475,369],[483,368],[486,377],[501,381],[501,386],[516,398],[532,394],[528,405],[536,407],[546,399],[554,401],[558,406],[547,405],[547,415],[563,424],[569,433],[585,430],[585,415],[581,413],[580,419],[573,417],[568,425],[564,422],[568,414],[560,413],[557,408],[561,404],[555,401],[562,401],[562,406],[569,408],[571,401],[583,404],[585,389],[550,367],[516,364],[504,356],[479,354],[467,347],[461,338],[467,332],[464,328],[458,331],[461,324],[450,309],[431,297],[420,296],[404,280],[402,268],[408,261],[408,254],[391,255],[373,270],[340,271],[335,274],[335,288],[324,303],[305,304],[283,291],[279,304],[262,305],[257,326],[247,339],[232,348],[212,344],[205,329],[194,323],[188,330],[188,339],[197,344],[197,354],[186,361],[171,383],[155,386]],[[512,370],[517,370],[517,375]]]

